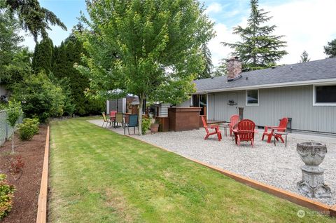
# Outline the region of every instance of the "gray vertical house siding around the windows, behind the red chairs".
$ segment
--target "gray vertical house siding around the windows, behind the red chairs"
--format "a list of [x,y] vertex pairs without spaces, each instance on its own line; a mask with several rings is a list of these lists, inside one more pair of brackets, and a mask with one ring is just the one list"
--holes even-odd
[[[237,105],[228,105],[234,100]],[[291,117],[292,128],[323,133],[336,133],[336,107],[313,106],[313,86],[259,89],[259,105],[246,106],[246,91],[237,90],[208,94],[208,119],[229,121],[244,107],[244,119],[257,126],[277,126],[282,117]]]

